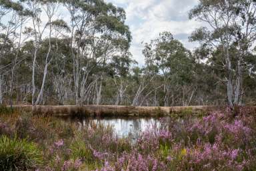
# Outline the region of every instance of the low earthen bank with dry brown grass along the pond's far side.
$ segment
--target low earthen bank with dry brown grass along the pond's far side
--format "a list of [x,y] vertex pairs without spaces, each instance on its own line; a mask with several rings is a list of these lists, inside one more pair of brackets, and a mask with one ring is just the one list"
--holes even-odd
[[221,110],[224,106],[173,106],[173,107],[147,107],[147,106],[31,106],[16,105],[16,110],[25,110],[35,114],[81,115],[81,116],[171,116],[171,115],[205,115],[213,110]]

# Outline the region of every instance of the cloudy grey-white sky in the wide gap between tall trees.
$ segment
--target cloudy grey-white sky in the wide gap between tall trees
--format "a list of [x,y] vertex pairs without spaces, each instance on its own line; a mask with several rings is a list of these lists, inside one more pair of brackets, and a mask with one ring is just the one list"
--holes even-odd
[[197,5],[197,0],[106,0],[123,7],[126,11],[133,41],[133,58],[143,65],[142,42],[149,43],[159,33],[170,31],[175,39],[181,41],[187,49],[193,50],[197,43],[189,43],[188,37],[201,23],[191,21],[188,12]]

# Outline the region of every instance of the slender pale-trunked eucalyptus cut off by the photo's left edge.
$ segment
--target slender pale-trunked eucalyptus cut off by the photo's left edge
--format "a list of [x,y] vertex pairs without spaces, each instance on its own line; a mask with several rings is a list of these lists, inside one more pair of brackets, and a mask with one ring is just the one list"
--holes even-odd
[[[3,77],[6,73],[9,73],[9,71],[11,71],[10,102],[12,102],[13,75],[18,57],[17,49],[20,49],[21,47],[21,32],[23,31],[22,25],[27,18],[26,16],[27,11],[23,9],[21,3],[0,1],[0,104],[3,102]],[[8,47],[9,50],[7,50]],[[13,55],[15,58],[11,61],[10,58]],[[9,61],[9,63],[5,63],[5,65],[3,65],[3,60],[5,60],[5,62]]]

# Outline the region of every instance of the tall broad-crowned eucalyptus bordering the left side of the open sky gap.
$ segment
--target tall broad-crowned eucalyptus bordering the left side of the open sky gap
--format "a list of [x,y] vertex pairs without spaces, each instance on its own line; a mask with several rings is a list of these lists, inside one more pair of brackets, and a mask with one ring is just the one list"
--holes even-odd
[[[101,0],[65,1],[71,23],[70,47],[76,104],[83,104],[100,77],[91,77],[97,65],[129,49],[131,34],[125,11]],[[93,79],[94,78],[94,79]]]

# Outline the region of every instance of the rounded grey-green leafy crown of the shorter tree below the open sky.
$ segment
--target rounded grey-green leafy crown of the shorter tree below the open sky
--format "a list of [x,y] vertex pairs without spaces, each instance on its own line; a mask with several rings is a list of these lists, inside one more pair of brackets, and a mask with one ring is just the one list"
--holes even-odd
[[193,58],[182,43],[173,39],[169,32],[160,33],[151,44],[146,44],[143,50],[146,63],[163,75],[165,80],[183,84],[193,78]]

